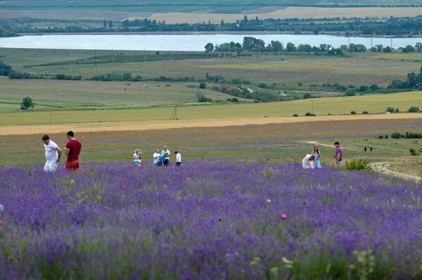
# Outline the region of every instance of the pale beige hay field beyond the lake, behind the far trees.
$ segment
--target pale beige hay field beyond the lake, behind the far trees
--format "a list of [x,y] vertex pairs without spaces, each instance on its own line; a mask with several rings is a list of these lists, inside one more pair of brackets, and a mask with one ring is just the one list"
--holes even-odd
[[[414,17],[422,15],[422,7],[359,7],[359,8],[319,8],[319,7],[288,7],[271,13],[154,13],[150,20],[166,20],[166,23],[234,23],[242,20],[244,15],[248,18],[366,18],[377,17]],[[134,19],[137,17],[129,17]]]

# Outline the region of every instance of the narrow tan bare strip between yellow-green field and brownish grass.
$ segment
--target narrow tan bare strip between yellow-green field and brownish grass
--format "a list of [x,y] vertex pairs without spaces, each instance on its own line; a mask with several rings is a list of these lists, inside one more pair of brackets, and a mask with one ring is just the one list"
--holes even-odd
[[225,119],[202,119],[202,120],[149,120],[128,122],[88,122],[66,123],[53,125],[10,125],[2,126],[0,136],[8,135],[32,135],[49,132],[64,133],[69,130],[77,132],[116,132],[116,131],[142,131],[154,129],[174,129],[186,127],[231,127],[245,125],[268,125],[281,123],[300,122],[340,122],[344,120],[397,120],[397,119],[422,119],[422,114],[380,114],[380,115],[335,115],[318,117],[239,117]]

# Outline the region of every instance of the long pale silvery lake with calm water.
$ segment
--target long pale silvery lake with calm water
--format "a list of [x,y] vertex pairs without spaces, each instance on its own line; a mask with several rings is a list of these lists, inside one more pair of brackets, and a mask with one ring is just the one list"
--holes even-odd
[[[336,37],[329,35],[292,35],[292,34],[264,34],[264,35],[239,35],[239,34],[201,34],[201,35],[45,35],[0,38],[0,47],[25,48],[25,49],[103,49],[103,50],[147,50],[147,51],[204,51],[204,46],[211,42],[222,44],[225,42],[242,43],[244,36],[252,36],[268,44],[278,40],[287,44],[331,44],[335,47],[354,44],[364,44],[371,47],[371,38],[365,37]],[[350,41],[349,41],[350,40]],[[422,38],[373,38],[373,46],[383,44],[399,48],[417,42]]]

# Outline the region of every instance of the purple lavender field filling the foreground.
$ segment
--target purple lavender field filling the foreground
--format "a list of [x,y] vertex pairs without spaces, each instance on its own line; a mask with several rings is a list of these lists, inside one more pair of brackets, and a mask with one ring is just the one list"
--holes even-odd
[[8,165],[0,279],[422,279],[421,198],[299,164]]

